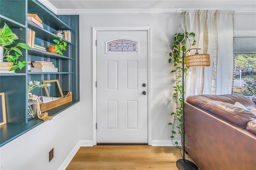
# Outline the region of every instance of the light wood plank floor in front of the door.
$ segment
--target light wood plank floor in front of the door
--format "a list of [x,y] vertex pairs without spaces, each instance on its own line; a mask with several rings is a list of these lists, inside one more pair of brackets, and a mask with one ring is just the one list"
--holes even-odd
[[[193,162],[188,154],[185,158]],[[81,147],[66,170],[177,170],[178,159],[182,159],[182,156],[180,149],[175,147],[97,145]]]

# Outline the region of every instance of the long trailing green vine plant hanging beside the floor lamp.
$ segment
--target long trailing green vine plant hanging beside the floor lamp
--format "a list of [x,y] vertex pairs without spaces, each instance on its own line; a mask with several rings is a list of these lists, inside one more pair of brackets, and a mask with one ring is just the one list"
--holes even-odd
[[[170,138],[172,139],[172,144],[178,148],[180,148],[180,144],[177,141],[173,141],[174,134],[180,134],[182,136],[182,57],[183,57],[183,51],[190,49],[190,46],[196,45],[196,41],[194,39],[195,34],[193,32],[188,33],[184,31],[183,33],[177,33],[174,34],[175,41],[172,45],[172,51],[170,52],[170,58],[169,63],[173,63],[174,69],[171,71],[171,73],[175,74],[176,79],[174,80],[174,93],[173,98],[174,102],[176,104],[175,111],[171,113],[171,115],[174,116],[174,122],[169,123],[168,125],[172,126],[172,135]],[[184,56],[186,57],[186,56]],[[185,58],[184,58],[185,59]],[[184,63],[186,61],[184,60]],[[184,76],[187,75],[187,68],[184,64]],[[185,82],[184,82],[185,87]],[[185,93],[185,91],[184,91]],[[175,131],[175,128],[177,128],[177,132]]]

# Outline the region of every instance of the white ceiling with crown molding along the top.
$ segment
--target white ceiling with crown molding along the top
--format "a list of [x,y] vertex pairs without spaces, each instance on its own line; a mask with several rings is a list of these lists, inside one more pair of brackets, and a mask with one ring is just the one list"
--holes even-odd
[[[56,14],[64,11],[122,9],[227,9],[254,10],[256,0],[39,0]],[[72,12],[71,12],[72,13]],[[74,13],[74,12],[73,12]]]

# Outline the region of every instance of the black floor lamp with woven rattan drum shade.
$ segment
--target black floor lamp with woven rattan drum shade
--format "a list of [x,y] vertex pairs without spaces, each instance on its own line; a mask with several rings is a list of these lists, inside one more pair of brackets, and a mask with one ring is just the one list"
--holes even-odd
[[[188,51],[196,49],[195,55],[188,55],[186,57],[186,67],[206,67],[210,66],[210,55],[209,54],[198,54],[197,50],[200,48],[191,48]],[[189,161],[185,160],[185,111],[184,111],[184,56],[188,52],[184,52],[182,56],[182,111],[183,111],[183,124],[182,124],[182,148],[183,148],[183,159],[179,159],[176,162],[176,166],[179,170],[198,170],[197,166]]]

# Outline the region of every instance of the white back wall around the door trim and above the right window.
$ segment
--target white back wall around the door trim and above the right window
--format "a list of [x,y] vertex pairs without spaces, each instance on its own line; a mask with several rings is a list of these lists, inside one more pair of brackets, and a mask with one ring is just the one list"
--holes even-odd
[[[256,30],[255,14],[236,14],[237,30]],[[168,64],[178,14],[80,14],[81,140],[92,139],[92,27],[151,27],[152,144],[172,145],[170,113],[174,111],[174,75]],[[180,140],[176,136],[174,140]]]

